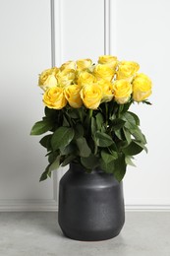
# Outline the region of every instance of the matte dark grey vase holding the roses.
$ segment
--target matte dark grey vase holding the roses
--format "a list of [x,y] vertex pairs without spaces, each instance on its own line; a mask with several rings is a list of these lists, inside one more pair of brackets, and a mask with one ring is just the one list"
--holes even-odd
[[58,222],[63,233],[76,240],[118,235],[125,223],[122,182],[99,169],[86,173],[71,163],[60,180]]

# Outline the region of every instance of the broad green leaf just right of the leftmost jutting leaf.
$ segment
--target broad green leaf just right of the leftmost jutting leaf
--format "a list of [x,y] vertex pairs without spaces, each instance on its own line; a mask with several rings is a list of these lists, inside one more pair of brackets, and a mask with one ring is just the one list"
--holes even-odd
[[51,146],[52,149],[58,150],[65,148],[67,145],[71,143],[75,135],[75,131],[73,128],[69,127],[60,127],[58,128],[52,138],[51,138]]

